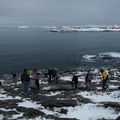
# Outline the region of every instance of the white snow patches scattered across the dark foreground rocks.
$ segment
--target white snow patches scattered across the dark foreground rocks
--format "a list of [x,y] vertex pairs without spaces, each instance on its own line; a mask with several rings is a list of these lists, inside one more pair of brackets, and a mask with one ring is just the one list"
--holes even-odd
[[[97,74],[98,71],[95,70],[93,71],[94,74]],[[84,78],[85,78],[85,74],[86,72],[76,72],[76,74],[79,77],[79,82],[84,82]],[[71,74],[67,74],[67,75],[63,75],[60,77],[61,81],[71,81],[72,80],[72,75]],[[95,77],[92,81],[94,84],[100,84],[101,82],[101,78],[98,74],[97,77]],[[118,116],[120,116],[120,112],[116,112],[116,109],[108,107],[105,108],[102,102],[116,102],[118,104],[120,104],[120,90],[118,90],[117,88],[119,87],[119,85],[114,85],[112,84],[113,82],[115,83],[119,83],[119,80],[115,79],[115,80],[110,80],[111,84],[109,85],[109,89],[112,91],[108,91],[108,92],[102,92],[102,91],[80,91],[77,90],[76,91],[76,95],[77,96],[82,96],[83,98],[87,98],[89,100],[91,100],[93,103],[78,103],[78,105],[76,105],[75,107],[54,107],[53,109],[50,109],[49,107],[45,108],[40,101],[39,102],[35,102],[30,98],[22,98],[21,96],[16,96],[16,97],[12,97],[10,95],[7,95],[7,92],[1,88],[0,89],[0,101],[3,100],[21,100],[18,103],[18,107],[25,107],[25,108],[34,108],[36,110],[40,110],[42,112],[44,112],[46,115],[53,115],[56,117],[60,117],[60,118],[76,118],[79,120],[96,120],[96,119],[116,119]],[[21,83],[19,83],[21,84]],[[44,96],[46,97],[54,97],[57,96],[57,100],[67,100],[67,97],[64,98],[60,98],[59,95],[62,95],[62,93],[64,93],[64,91],[50,91],[50,89],[54,88],[55,85],[47,85],[47,83],[45,83],[42,87],[43,91],[49,91],[46,92],[44,94]],[[13,88],[12,88],[13,89]],[[18,88],[15,88],[14,91],[17,91]],[[68,91],[67,91],[68,92]],[[69,93],[71,94],[71,93]],[[73,93],[72,93],[73,94]],[[77,100],[77,98],[71,98],[71,100]],[[67,110],[66,114],[61,113],[61,109],[65,109]],[[2,111],[10,111],[10,110],[15,110],[16,109],[5,109],[5,108],[0,108],[0,110]],[[22,117],[23,113],[19,112],[19,114],[16,115],[12,115],[11,119],[17,119],[18,117]],[[0,114],[0,119],[3,119],[4,116],[2,114]],[[36,117],[36,120],[52,120],[52,119],[47,119],[45,117]],[[29,120],[33,120],[32,118],[30,118]],[[54,120],[54,119],[53,119]]]

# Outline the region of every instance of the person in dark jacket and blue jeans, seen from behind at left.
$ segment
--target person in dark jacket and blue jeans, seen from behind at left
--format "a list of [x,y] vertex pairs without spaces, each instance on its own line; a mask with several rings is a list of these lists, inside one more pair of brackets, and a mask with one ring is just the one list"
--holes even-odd
[[27,95],[29,90],[29,82],[30,82],[30,76],[27,73],[27,69],[24,69],[24,72],[21,75],[21,81],[23,83],[24,94]]

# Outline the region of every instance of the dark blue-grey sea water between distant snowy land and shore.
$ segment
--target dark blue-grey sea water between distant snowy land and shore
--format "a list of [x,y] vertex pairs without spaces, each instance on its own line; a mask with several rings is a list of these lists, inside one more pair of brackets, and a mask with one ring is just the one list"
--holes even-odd
[[0,74],[24,68],[119,67],[120,32],[0,27]]

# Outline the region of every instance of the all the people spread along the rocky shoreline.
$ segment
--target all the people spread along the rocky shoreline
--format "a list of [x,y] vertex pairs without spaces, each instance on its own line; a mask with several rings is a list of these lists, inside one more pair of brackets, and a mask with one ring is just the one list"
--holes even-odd
[[[108,72],[107,70],[100,70],[101,76],[102,76],[102,89],[106,89],[106,83],[109,79],[108,77]],[[56,82],[58,83],[58,73],[57,70],[55,69],[49,69],[48,73],[48,83],[51,82]],[[17,85],[17,74],[15,72],[12,73],[13,77],[13,83]],[[85,76],[85,86],[87,89],[91,88],[91,81],[93,79],[93,75],[90,70],[87,71],[87,74]],[[39,85],[39,80],[40,80],[40,73],[37,71],[37,69],[34,69],[33,71],[24,69],[24,72],[21,75],[21,81],[23,83],[23,91],[24,94],[27,95],[29,92],[29,88],[31,88],[31,91],[33,94],[36,94],[36,91],[39,91],[40,85]],[[71,86],[74,89],[78,88],[78,76],[73,75],[72,81],[71,81]]]

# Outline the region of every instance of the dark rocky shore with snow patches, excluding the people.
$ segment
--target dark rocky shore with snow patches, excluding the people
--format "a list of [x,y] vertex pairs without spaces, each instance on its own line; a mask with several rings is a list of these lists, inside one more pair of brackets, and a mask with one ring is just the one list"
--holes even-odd
[[[97,91],[101,86],[100,73],[92,70],[91,89],[86,89],[86,70],[61,71],[59,81],[48,84],[44,73],[40,90],[33,98],[31,92],[24,96],[20,80],[17,86],[10,76],[1,78],[0,119],[4,120],[120,120],[120,71],[110,71],[109,89]],[[79,77],[77,90],[71,87],[72,75]],[[19,79],[19,78],[18,78]]]

